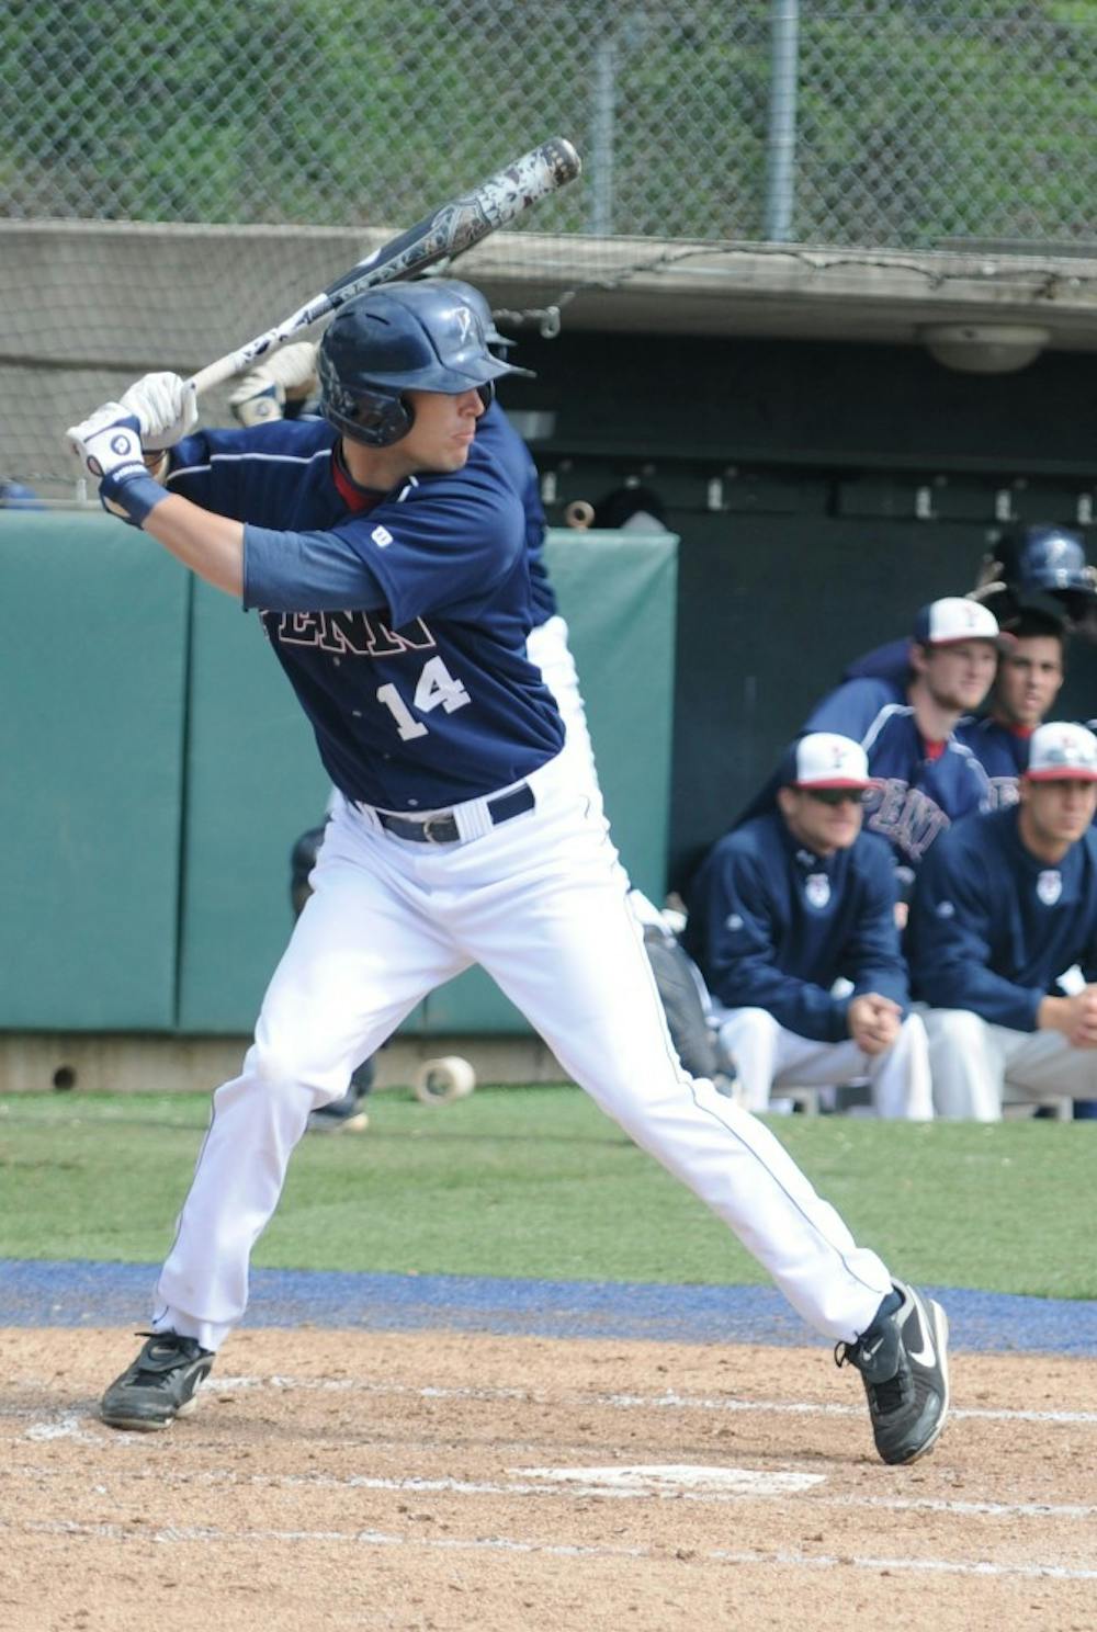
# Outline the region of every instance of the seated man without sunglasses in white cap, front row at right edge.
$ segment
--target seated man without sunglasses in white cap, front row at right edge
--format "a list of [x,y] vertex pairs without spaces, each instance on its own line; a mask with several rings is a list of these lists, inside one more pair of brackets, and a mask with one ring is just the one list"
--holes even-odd
[[1097,1100],[1095,809],[1097,738],[1041,725],[1020,801],[958,823],[926,858],[906,951],[940,1116],[996,1121],[1006,1087]]

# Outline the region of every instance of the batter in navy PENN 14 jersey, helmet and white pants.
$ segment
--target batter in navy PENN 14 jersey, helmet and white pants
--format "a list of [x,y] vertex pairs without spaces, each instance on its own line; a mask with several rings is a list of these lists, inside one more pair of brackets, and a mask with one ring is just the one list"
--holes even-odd
[[[860,1371],[880,1456],[914,1461],[948,1408],[945,1314],[854,1242],[761,1121],[682,1071],[606,819],[562,752],[526,653],[522,504],[477,437],[513,372],[444,281],[400,284],[330,323],[323,421],[188,436],[183,382],[167,405],[137,382],[69,432],[111,511],[258,610],[340,790],[253,1046],[214,1095],[152,1333],[103,1420],[165,1428],[193,1407],[310,1110],[482,963]],[[163,486],[142,439],[173,444]]]

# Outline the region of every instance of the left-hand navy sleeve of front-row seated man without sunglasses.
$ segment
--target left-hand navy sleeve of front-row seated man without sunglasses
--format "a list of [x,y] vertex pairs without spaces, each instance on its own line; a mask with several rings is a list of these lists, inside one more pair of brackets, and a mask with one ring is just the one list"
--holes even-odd
[[[966,826],[966,824],[965,824]],[[944,834],[922,862],[908,929],[914,996],[932,1009],[970,1009],[991,1025],[1035,1031],[1043,991],[991,969],[991,889],[981,857]]]

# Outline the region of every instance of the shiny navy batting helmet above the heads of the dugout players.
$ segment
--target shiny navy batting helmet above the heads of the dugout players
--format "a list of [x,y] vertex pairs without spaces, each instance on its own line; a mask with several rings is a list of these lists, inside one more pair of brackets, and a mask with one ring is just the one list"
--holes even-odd
[[1097,601],[1097,571],[1086,561],[1079,532],[1032,522],[1001,535],[971,597],[988,604],[999,623],[1027,610],[1076,623]]

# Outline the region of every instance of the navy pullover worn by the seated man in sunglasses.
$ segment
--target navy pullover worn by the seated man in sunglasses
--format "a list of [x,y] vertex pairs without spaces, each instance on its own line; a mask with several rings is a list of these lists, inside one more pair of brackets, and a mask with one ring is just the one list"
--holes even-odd
[[821,1043],[849,1036],[849,996],[878,992],[906,1009],[906,965],[895,925],[886,844],[862,832],[818,857],[784,818],[757,816],[708,852],[691,889],[686,950],[726,1009],[767,1009],[788,1031]]

